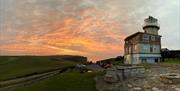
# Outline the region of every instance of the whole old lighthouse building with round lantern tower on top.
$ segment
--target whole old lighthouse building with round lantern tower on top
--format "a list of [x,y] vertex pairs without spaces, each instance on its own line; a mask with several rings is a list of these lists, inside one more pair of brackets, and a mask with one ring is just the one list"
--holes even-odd
[[160,61],[161,36],[158,20],[149,16],[144,20],[144,32],[137,32],[125,38],[125,64],[157,63]]

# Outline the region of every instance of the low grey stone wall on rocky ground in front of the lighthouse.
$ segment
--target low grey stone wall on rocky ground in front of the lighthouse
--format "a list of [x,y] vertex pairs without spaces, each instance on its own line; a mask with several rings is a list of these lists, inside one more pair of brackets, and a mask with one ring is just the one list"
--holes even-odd
[[104,80],[114,83],[131,77],[144,77],[144,73],[145,68],[142,66],[113,66],[106,70]]

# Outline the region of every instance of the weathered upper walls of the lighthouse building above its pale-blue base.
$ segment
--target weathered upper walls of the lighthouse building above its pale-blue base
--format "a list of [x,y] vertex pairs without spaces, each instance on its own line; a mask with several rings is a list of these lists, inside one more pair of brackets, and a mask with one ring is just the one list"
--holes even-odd
[[[125,41],[124,53],[160,53],[161,36],[141,33]],[[132,50],[132,51],[131,51]],[[152,51],[151,51],[152,50]]]

